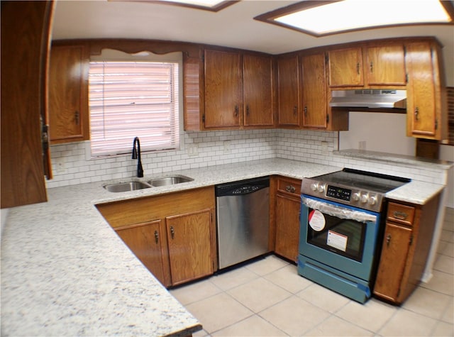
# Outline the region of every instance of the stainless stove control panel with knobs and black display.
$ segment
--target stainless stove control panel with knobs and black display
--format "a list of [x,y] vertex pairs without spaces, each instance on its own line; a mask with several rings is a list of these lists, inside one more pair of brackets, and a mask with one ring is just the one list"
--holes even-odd
[[336,201],[370,211],[380,211],[382,208],[382,194],[328,184],[310,178],[303,179],[301,194]]

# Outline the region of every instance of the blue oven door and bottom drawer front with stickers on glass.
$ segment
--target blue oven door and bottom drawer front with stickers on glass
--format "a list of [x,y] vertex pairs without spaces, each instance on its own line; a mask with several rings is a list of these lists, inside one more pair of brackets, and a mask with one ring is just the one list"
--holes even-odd
[[299,274],[365,302],[376,263],[380,214],[302,195],[300,221]]

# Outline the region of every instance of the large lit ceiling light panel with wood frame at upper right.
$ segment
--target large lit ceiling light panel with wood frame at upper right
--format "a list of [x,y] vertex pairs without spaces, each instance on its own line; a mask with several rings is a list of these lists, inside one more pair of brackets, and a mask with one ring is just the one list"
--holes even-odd
[[[445,5],[452,7],[450,3]],[[453,23],[450,13],[438,0],[301,1],[287,9],[257,19],[316,36],[385,26]]]

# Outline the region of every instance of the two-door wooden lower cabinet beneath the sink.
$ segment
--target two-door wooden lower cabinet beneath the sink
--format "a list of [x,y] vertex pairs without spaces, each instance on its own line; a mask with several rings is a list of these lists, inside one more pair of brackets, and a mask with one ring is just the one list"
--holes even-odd
[[165,287],[217,269],[214,187],[96,205]]

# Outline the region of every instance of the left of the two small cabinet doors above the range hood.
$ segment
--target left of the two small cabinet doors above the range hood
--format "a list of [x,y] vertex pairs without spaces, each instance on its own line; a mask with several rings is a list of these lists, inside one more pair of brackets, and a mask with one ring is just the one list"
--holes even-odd
[[328,59],[330,87],[364,85],[361,48],[331,50],[328,52]]

